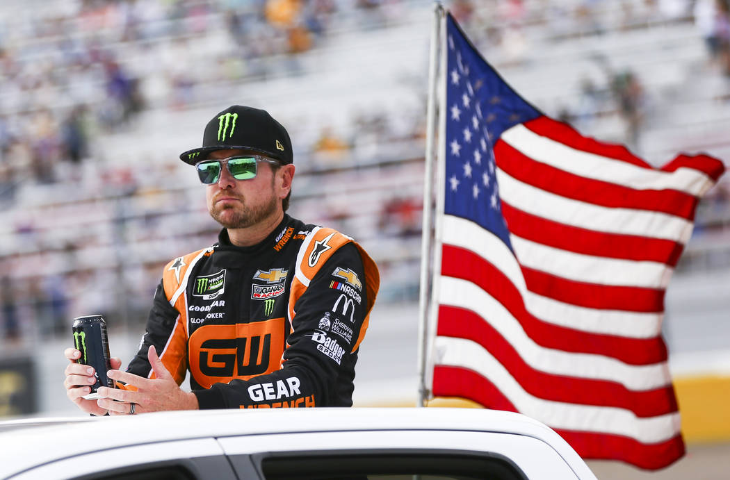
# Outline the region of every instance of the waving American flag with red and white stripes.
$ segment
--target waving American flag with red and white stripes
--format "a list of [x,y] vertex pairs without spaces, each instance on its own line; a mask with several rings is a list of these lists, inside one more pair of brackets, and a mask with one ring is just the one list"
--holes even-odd
[[664,291],[723,163],[653,169],[580,136],[520,98],[450,15],[444,48],[432,394],[539,419],[584,458],[669,465],[684,443]]

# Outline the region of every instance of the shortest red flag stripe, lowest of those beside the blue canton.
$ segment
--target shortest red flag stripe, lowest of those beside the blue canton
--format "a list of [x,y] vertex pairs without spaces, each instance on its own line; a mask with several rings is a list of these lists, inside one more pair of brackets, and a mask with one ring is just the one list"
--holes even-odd
[[590,309],[664,311],[664,290],[576,282],[520,266],[527,290]]

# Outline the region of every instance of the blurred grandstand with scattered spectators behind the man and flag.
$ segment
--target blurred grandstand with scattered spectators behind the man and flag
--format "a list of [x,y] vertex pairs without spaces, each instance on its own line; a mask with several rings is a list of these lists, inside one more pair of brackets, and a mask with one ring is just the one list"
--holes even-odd
[[[548,115],[654,165],[680,151],[730,159],[726,0],[447,4]],[[377,260],[381,322],[366,347],[390,351],[403,334],[393,348],[410,359],[391,371],[415,377],[430,26],[420,0],[4,0],[2,356],[69,343],[82,314],[142,333],[164,264],[218,233],[177,155],[213,113],[247,104],[291,133],[291,214]],[[730,313],[729,177],[699,207],[666,318],[670,352],[712,352],[726,373],[729,327],[715,329]]]

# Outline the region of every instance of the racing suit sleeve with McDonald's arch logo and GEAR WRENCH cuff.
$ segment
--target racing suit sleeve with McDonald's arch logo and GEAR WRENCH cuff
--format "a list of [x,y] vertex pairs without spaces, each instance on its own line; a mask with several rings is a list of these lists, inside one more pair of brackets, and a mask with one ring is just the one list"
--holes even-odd
[[345,244],[294,304],[280,370],[196,390],[201,409],[351,406],[358,346],[369,313],[363,260]]

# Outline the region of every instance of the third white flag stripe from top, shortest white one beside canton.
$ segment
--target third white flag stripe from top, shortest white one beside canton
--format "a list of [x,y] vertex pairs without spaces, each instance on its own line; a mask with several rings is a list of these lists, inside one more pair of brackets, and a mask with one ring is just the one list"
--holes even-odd
[[576,282],[665,288],[674,271],[664,263],[569,252],[515,235],[510,241],[521,265]]

